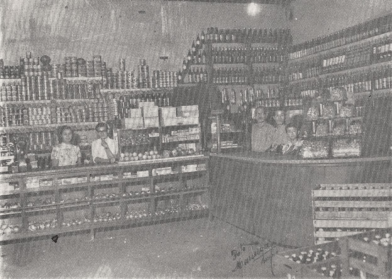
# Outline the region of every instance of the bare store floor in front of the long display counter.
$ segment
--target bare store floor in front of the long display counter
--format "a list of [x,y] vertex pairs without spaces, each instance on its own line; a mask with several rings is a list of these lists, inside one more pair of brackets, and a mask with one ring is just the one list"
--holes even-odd
[[[2,246],[3,278],[232,278],[233,248],[249,235],[193,220]],[[260,267],[257,277],[271,278]],[[261,270],[261,271],[260,271]],[[264,276],[262,276],[264,274]]]

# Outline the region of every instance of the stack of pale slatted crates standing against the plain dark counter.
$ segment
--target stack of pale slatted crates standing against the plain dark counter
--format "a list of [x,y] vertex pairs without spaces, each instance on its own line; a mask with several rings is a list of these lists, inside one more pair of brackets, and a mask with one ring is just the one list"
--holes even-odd
[[316,244],[390,227],[390,184],[322,184],[312,192]]

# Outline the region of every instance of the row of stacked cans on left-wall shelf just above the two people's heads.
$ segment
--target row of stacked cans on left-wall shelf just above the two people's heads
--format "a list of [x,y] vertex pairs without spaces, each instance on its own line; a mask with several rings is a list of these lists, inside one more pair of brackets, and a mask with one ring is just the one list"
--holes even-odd
[[74,106],[22,108],[7,105],[1,108],[1,127],[46,124],[105,122],[108,119],[106,103]]

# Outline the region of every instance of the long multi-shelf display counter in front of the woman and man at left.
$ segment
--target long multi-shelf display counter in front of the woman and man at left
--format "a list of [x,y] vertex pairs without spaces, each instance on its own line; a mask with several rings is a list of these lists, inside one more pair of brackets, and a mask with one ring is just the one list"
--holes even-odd
[[209,216],[203,155],[5,174],[0,241]]

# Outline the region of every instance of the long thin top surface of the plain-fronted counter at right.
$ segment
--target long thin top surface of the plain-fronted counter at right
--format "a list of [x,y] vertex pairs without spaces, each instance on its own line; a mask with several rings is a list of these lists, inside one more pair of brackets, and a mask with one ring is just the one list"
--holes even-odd
[[359,158],[336,158],[336,159],[268,159],[265,153],[210,153],[211,158],[226,158],[244,161],[258,161],[268,164],[345,164],[360,162],[390,161],[391,156],[385,157],[359,157]]

